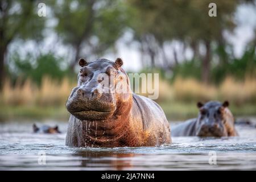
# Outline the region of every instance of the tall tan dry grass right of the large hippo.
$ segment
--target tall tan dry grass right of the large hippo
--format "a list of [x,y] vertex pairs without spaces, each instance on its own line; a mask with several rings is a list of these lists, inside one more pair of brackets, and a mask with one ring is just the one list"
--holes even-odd
[[237,105],[256,102],[256,78],[253,77],[246,77],[243,82],[226,77],[220,85],[204,85],[193,78],[177,78],[172,86],[176,101],[229,100]]

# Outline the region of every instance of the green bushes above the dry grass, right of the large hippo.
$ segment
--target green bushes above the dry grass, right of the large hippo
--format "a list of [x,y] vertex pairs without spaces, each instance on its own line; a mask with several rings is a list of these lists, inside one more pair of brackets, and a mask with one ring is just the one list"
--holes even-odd
[[[231,55],[226,57],[225,63],[212,65],[210,78],[213,83],[219,84],[226,76],[238,80],[243,80],[246,76],[256,76],[256,54],[253,45],[247,47],[241,58],[233,58]],[[174,81],[178,76],[200,80],[201,63],[201,60],[191,60],[176,65],[171,80]]]

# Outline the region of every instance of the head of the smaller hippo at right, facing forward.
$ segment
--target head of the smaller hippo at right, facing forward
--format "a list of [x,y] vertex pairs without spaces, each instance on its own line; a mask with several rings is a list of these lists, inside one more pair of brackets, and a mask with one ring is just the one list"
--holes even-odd
[[[229,125],[233,125],[226,117],[229,102],[223,104],[217,101],[210,101],[206,104],[197,103],[199,115],[196,123],[196,135],[199,137],[227,137]],[[231,112],[228,114],[233,118]]]

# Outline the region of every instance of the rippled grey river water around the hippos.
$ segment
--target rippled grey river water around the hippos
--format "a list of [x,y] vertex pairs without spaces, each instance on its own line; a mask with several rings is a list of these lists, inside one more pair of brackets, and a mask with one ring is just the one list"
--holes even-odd
[[256,169],[255,127],[237,126],[240,137],[173,137],[159,147],[75,148],[65,146],[67,122],[46,123],[63,133],[33,134],[31,122],[0,123],[1,170]]

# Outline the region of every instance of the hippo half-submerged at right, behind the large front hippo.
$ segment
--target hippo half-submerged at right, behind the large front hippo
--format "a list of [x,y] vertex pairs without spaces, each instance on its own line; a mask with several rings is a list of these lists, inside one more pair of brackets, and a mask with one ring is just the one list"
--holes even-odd
[[231,137],[237,136],[234,127],[234,117],[228,109],[229,102],[223,104],[218,101],[209,101],[206,104],[197,103],[199,114],[197,118],[177,125],[172,130],[172,137]]

